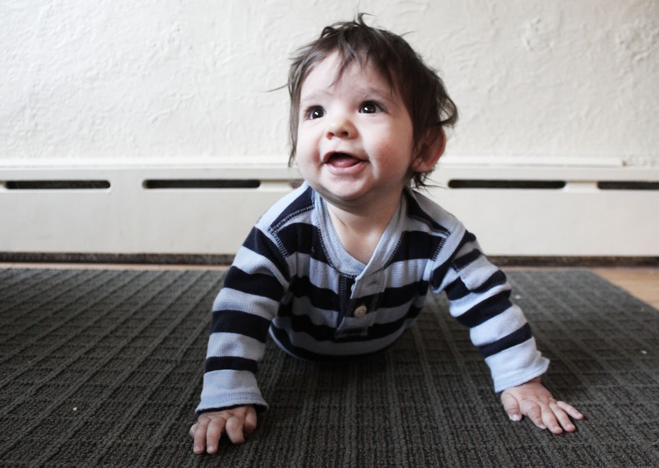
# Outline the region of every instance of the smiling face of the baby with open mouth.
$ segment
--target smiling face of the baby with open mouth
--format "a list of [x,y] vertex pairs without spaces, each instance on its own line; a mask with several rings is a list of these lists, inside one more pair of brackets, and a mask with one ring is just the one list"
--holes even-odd
[[398,203],[413,169],[413,125],[403,99],[373,66],[337,77],[337,55],[302,84],[296,159],[329,203]]

